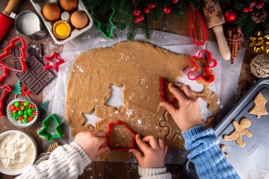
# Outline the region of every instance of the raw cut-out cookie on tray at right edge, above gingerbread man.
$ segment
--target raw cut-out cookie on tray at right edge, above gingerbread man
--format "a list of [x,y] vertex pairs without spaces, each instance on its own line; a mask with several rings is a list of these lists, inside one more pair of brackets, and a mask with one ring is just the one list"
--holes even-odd
[[256,115],[258,119],[260,119],[261,115],[268,115],[268,111],[265,108],[265,103],[267,100],[263,97],[263,94],[260,92],[253,100],[255,105],[249,111],[249,113]]

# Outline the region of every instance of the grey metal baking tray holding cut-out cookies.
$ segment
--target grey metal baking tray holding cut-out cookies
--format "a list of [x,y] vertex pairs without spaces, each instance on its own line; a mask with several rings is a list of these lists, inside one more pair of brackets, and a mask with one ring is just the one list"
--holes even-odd
[[[215,127],[220,144],[226,146],[224,151],[229,154],[229,162],[241,178],[269,178],[269,115],[262,115],[260,119],[257,119],[256,115],[248,113],[253,108],[253,100],[259,92],[268,100],[265,108],[269,111],[268,77],[256,82],[222,122]],[[234,131],[231,121],[239,121],[244,117],[251,120],[251,126],[248,129],[253,134],[249,138],[243,135],[242,139],[246,142],[246,146],[241,147],[235,141],[224,141],[223,135]],[[198,178],[193,163],[190,163],[188,159],[185,162],[185,173],[189,178]]]

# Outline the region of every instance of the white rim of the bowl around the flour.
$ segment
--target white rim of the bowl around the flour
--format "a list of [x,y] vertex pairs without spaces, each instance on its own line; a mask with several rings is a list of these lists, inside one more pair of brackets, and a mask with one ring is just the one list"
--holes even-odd
[[[26,138],[30,139],[30,142],[32,142],[33,144],[33,154],[34,154],[34,157],[32,159],[32,161],[30,162],[30,164],[33,164],[35,163],[35,158],[36,156],[38,155],[38,148],[35,144],[35,141],[32,137],[30,137],[28,134],[24,133],[24,132],[21,132],[21,131],[18,131],[18,130],[10,130],[10,131],[6,131],[6,132],[3,132],[2,134],[0,134],[0,142],[1,142],[1,139],[3,139],[4,137],[6,137],[6,135],[8,134],[13,134],[13,133],[17,133],[17,134],[22,134],[23,136],[25,136]],[[3,164],[0,162],[0,173],[4,173],[6,175],[20,175],[21,173],[23,173],[25,168],[20,168],[20,169],[10,169],[10,168],[6,168],[3,166]]]

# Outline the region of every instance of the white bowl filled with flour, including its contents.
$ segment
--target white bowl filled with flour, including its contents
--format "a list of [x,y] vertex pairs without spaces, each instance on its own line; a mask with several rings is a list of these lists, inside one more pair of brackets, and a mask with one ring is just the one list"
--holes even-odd
[[38,149],[32,137],[11,130],[0,134],[0,173],[19,175],[35,162]]

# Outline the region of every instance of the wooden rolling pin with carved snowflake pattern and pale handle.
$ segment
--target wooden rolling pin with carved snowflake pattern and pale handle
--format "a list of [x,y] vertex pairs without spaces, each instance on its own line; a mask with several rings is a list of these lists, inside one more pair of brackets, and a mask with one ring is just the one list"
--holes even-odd
[[222,29],[222,24],[225,23],[225,20],[222,14],[222,8],[219,6],[219,1],[205,0],[204,5],[202,6],[202,11],[204,11],[207,27],[213,28],[214,33],[216,34],[220,54],[222,54],[224,59],[230,59],[231,52]]

